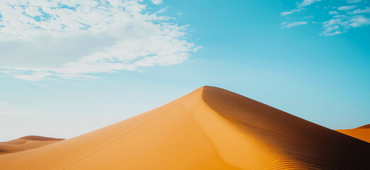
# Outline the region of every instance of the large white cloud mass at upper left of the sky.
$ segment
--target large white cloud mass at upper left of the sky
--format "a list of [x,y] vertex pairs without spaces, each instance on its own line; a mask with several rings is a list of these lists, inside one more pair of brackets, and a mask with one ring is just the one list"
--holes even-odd
[[[162,1],[152,0],[153,4]],[[0,72],[28,81],[179,64],[198,47],[141,0],[0,2]]]

